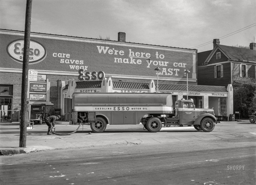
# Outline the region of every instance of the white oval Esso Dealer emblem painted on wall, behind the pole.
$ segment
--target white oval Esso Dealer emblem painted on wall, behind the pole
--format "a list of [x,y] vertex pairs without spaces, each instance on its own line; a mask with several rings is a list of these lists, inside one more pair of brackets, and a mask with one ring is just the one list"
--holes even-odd
[[[24,40],[12,41],[7,46],[7,53],[18,63],[23,63]],[[39,63],[46,57],[45,47],[37,41],[30,40],[29,64]]]

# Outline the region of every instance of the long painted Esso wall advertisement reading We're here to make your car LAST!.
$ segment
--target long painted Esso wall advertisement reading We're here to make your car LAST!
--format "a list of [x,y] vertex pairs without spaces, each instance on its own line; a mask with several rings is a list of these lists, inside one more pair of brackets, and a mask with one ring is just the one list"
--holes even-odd
[[[0,53],[4,61],[1,68],[22,69],[21,37],[0,31]],[[30,45],[29,63],[35,70],[78,73],[81,69],[83,76],[86,72],[104,71],[113,77],[156,78],[154,69],[159,67],[159,78],[184,80],[186,69],[191,72],[189,78],[195,73],[196,50],[191,49],[35,34],[31,34]]]

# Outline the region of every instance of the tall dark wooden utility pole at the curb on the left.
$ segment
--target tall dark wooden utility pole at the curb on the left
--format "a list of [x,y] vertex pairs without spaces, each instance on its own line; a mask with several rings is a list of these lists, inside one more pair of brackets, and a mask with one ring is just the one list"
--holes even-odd
[[24,53],[22,65],[22,84],[21,84],[21,118],[20,118],[20,145],[26,148],[26,123],[27,123],[27,86],[28,86],[28,63],[29,63],[29,47],[30,47],[30,25],[31,25],[31,9],[32,0],[26,3],[26,19],[25,19],[25,36],[24,36]]

